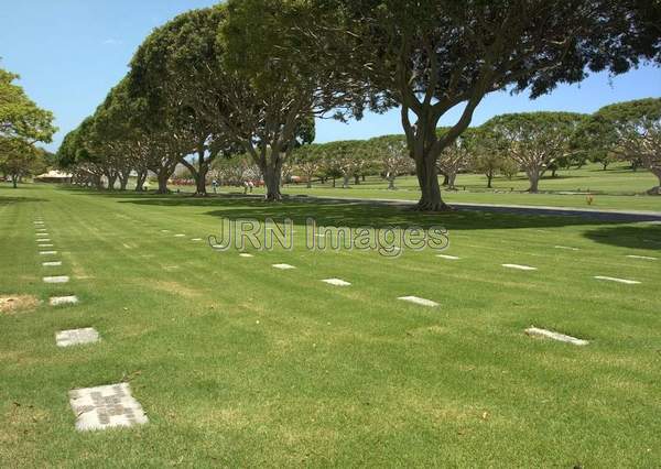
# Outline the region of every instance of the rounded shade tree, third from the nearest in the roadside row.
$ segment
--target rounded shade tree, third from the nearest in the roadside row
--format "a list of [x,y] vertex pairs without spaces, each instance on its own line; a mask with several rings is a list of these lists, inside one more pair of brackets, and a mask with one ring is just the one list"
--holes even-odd
[[[132,96],[149,105],[150,131],[170,133],[183,153],[180,161],[196,182],[196,195],[206,195],[214,160],[229,151],[220,126],[225,110],[214,100],[215,75],[223,78],[216,36],[224,18],[221,7],[193,10],[156,29],[136,53],[128,77]],[[188,153],[194,157],[185,157]]]

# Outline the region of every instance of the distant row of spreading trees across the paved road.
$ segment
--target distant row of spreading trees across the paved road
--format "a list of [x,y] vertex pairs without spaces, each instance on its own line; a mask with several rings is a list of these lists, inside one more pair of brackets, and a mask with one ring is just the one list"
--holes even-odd
[[[438,135],[445,132],[447,128],[437,129]],[[249,168],[245,160],[237,161]],[[581,167],[588,161],[600,163],[604,170],[613,161],[626,161],[635,171],[642,167],[659,177],[661,99],[609,105],[592,116],[549,111],[496,116],[466,129],[446,146],[436,170],[449,189],[463,172],[483,174],[491,188],[497,175],[512,178],[522,171],[530,183],[528,190],[537,193],[549,172],[554,176],[560,168]],[[221,164],[236,168],[231,162]],[[350,177],[358,184],[359,176],[380,174],[388,188],[394,189],[399,175],[415,172],[404,135],[303,145],[294,150],[289,165],[289,173],[302,175],[308,187],[314,178],[339,177],[347,187]],[[649,193],[658,194],[659,186]]]

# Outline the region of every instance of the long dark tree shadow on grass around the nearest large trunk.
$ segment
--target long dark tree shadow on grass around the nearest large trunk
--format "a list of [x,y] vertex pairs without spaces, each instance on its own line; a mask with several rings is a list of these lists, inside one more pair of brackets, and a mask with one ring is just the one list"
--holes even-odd
[[411,227],[430,228],[442,226],[452,229],[517,229],[517,228],[556,228],[566,226],[604,226],[621,223],[621,220],[593,219],[579,216],[527,215],[505,211],[486,211],[458,208],[442,214],[424,214],[401,204],[381,204],[369,201],[346,201],[334,199],[291,198],[281,203],[267,203],[250,197],[207,197],[186,196],[139,196],[120,197],[121,204],[136,204],[159,207],[213,207],[204,215],[217,218],[247,218],[264,220],[272,218],[281,222],[285,218],[295,225],[305,225],[307,218],[314,218],[317,225],[337,227]]

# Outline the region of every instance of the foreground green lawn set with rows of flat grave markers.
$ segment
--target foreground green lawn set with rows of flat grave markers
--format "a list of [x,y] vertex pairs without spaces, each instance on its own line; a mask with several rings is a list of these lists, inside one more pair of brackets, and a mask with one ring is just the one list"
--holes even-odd
[[[67,284],[42,282],[35,216]],[[462,259],[191,241],[269,216],[443,225]],[[660,251],[649,223],[1,185],[0,296],[42,304],[0,314],[0,467],[660,467],[661,260],[627,258]],[[55,346],[90,326],[100,343]],[[68,390],[120,381],[150,423],[77,433]]]

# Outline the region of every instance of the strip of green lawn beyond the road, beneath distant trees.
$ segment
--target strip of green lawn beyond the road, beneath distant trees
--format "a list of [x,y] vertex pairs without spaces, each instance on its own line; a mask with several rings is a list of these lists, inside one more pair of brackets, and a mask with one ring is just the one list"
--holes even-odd
[[[330,183],[316,183],[310,189],[305,187],[305,184],[289,184],[283,188],[283,193],[402,200],[418,200],[420,197],[418,179],[413,176],[398,178],[398,190],[388,190],[388,183],[377,176],[370,176],[359,185],[351,184],[348,189],[340,188],[340,184],[342,182],[338,179],[337,188],[333,188]],[[494,179],[492,189],[487,189],[486,184],[486,177],[481,175],[459,174],[456,182],[458,190],[444,190],[443,197],[448,203],[661,211],[661,197],[646,195],[649,188],[658,184],[657,178],[644,170],[632,172],[625,164],[614,164],[607,171],[603,171],[600,165],[588,164],[581,170],[559,171],[555,178],[551,177],[549,173],[540,183],[540,194],[524,193],[529,183],[523,174],[519,174],[511,181],[498,176]],[[180,187],[180,189],[189,192],[192,187]],[[595,193],[592,205],[587,204],[585,195],[571,194],[587,190]],[[242,188],[224,187],[221,192],[242,192]],[[262,190],[256,189],[256,193],[261,194]]]

